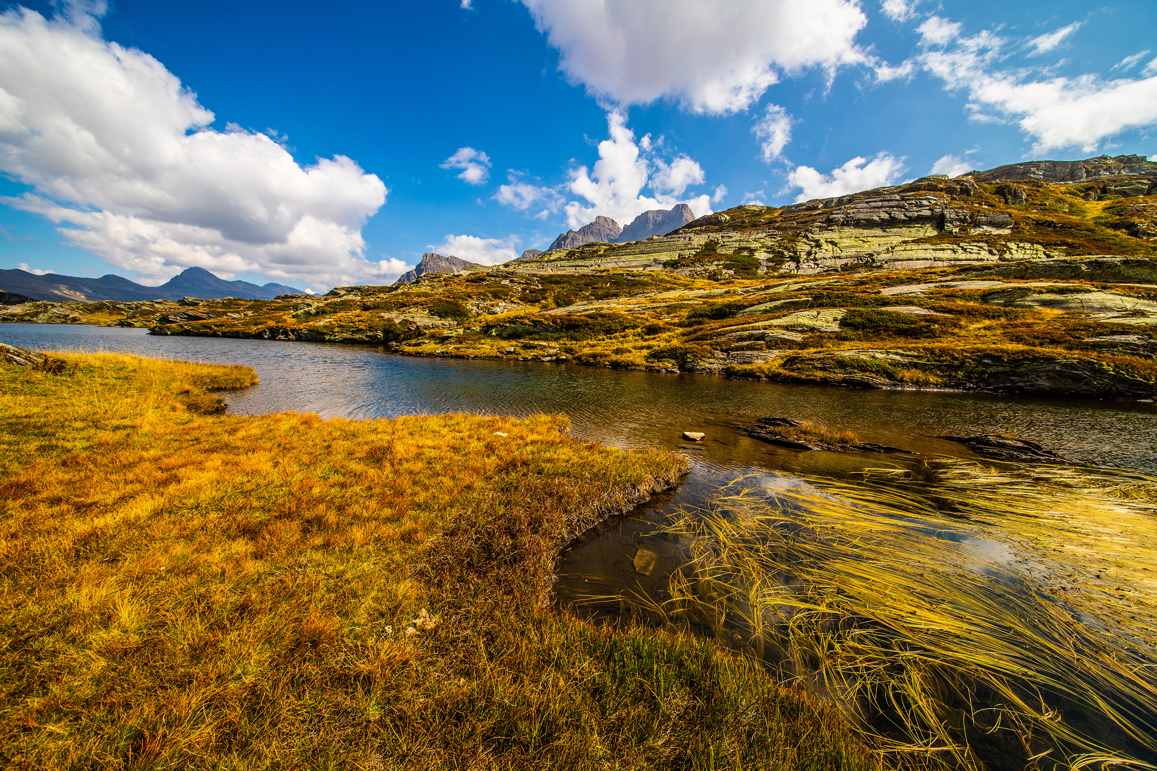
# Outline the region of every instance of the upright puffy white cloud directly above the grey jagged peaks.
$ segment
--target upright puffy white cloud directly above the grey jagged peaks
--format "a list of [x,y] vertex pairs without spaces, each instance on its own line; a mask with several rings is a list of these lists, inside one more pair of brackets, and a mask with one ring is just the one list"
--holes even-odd
[[[649,161],[648,157],[640,154],[640,144],[654,148],[658,142],[636,144],[634,132],[627,127],[626,118],[620,112],[609,112],[606,123],[611,138],[598,144],[598,161],[595,162],[595,168],[578,167],[572,171],[570,183],[566,185],[572,194],[585,200],[585,204],[572,200],[566,205],[568,227],[580,228],[598,215],[610,216],[620,225],[626,225],[646,211],[671,208],[676,204],[687,204],[695,216],[710,213],[710,198],[707,194],[690,200],[679,200],[681,191],[680,193],[664,194],[666,191],[673,192],[673,189],[663,188],[663,184],[671,185],[675,182],[677,186],[683,179],[688,179],[690,184],[694,177],[702,181],[702,177],[699,176],[702,170],[694,161],[691,161],[694,167],[690,164],[681,167],[683,171],[677,175],[679,177],[677,181],[671,178],[669,174],[657,189],[653,184],[653,189],[656,190],[654,197],[642,196],[641,192],[648,184],[648,174],[654,160]],[[687,160],[690,161],[690,159]],[[671,166],[659,166],[658,163],[655,166],[659,168],[661,172],[664,167],[670,171],[678,162],[676,160]]]

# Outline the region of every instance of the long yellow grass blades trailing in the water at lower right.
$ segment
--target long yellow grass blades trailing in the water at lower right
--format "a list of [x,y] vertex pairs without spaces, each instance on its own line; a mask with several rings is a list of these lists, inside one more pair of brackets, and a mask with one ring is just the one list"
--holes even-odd
[[685,512],[692,561],[653,608],[778,663],[905,765],[1151,768],[1157,479],[864,476],[740,480]]

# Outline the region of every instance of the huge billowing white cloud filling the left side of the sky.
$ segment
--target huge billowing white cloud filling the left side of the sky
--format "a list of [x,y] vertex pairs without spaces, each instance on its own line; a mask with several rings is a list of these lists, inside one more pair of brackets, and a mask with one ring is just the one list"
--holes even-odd
[[381,179],[341,155],[301,167],[266,134],[209,128],[194,94],[104,41],[86,8],[0,14],[0,170],[32,186],[3,203],[157,281],[191,265],[331,285],[395,271],[363,257]]

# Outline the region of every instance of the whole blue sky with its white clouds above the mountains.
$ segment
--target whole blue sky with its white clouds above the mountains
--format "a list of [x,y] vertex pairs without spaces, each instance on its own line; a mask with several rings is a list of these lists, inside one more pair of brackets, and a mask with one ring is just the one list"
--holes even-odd
[[325,291],[595,214],[1157,155],[1151,0],[3,8],[0,267]]

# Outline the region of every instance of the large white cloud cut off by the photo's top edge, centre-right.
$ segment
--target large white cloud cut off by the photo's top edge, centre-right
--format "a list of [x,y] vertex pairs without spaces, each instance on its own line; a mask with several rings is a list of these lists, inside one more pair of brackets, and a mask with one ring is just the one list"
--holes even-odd
[[572,82],[611,105],[678,100],[734,112],[782,73],[864,60],[855,0],[521,0]]

